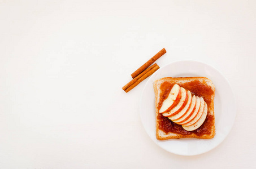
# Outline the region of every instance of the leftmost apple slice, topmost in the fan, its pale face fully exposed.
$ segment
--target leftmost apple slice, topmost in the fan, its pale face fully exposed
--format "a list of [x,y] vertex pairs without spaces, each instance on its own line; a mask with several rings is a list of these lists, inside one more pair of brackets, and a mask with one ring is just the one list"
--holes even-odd
[[176,101],[180,99],[181,95],[181,88],[178,84],[174,84],[170,94],[168,97],[163,101],[163,104],[159,110],[159,113],[165,113],[172,109],[175,106]]

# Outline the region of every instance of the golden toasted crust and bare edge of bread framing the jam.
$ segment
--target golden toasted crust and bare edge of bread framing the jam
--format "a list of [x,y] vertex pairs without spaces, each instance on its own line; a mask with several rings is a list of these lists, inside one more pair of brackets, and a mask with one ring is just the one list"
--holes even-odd
[[206,78],[206,77],[177,77],[177,78],[171,78],[171,77],[166,77],[166,78],[161,78],[158,79],[157,81],[154,82],[154,92],[155,92],[155,119],[156,119],[156,136],[158,140],[167,140],[167,139],[179,139],[179,138],[199,138],[199,139],[211,139],[215,136],[215,118],[213,119],[213,124],[211,127],[211,134],[210,135],[202,135],[202,136],[197,136],[196,134],[191,134],[191,135],[181,135],[181,134],[175,134],[173,132],[168,132],[167,134],[159,129],[159,119],[158,117],[158,103],[159,103],[159,97],[160,97],[160,84],[163,82],[171,82],[171,83],[176,83],[176,84],[183,84],[186,82],[192,82],[198,80],[204,84],[207,84],[207,86],[210,86],[212,91],[214,93],[211,95],[211,102],[208,106],[208,111],[210,114],[214,116],[214,95],[215,95],[215,87],[214,84],[212,84],[211,80]]

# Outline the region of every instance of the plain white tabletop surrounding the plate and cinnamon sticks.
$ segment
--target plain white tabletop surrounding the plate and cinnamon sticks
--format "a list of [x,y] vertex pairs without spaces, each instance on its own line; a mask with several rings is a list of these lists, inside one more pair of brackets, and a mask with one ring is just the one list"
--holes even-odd
[[[255,167],[255,30],[255,1],[0,0],[0,168]],[[122,90],[163,47],[160,67],[202,61],[231,83],[236,121],[210,152],[161,149],[146,81]]]

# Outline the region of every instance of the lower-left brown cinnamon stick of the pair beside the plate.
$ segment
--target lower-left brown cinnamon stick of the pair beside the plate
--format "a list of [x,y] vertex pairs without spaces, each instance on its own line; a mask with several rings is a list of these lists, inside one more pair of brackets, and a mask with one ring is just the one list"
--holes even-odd
[[155,71],[159,69],[159,66],[157,64],[154,64],[144,70],[141,74],[139,74],[137,77],[132,79],[131,82],[127,83],[123,88],[125,92],[128,92],[132,90],[135,86],[137,86],[140,82],[144,81],[147,77],[149,77],[151,74],[153,74]]

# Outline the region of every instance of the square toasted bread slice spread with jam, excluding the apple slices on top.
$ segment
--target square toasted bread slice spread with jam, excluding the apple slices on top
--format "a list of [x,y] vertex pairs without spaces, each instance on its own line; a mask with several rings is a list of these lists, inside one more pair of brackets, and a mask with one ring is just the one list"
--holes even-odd
[[[164,84],[163,84],[164,83]],[[181,125],[172,122],[167,117],[159,113],[159,101],[164,100],[163,84],[179,84],[179,86],[192,92],[196,96],[202,96],[206,101],[208,110],[205,122],[194,131],[186,131]],[[169,88],[170,90],[170,88]],[[211,80],[206,77],[178,77],[161,78],[154,82],[155,109],[156,109],[156,136],[158,140],[179,139],[194,137],[199,139],[211,139],[215,136],[215,117],[214,117],[214,95],[215,87]]]

